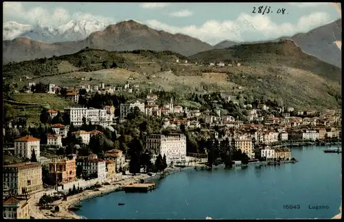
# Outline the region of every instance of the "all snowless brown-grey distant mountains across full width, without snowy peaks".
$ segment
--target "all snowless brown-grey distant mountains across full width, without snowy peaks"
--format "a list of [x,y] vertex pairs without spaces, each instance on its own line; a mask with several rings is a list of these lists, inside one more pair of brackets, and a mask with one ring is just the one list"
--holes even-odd
[[[69,21],[69,23],[69,25],[73,25],[75,21]],[[336,23],[335,27],[338,28],[338,31],[339,29],[341,30],[341,19],[338,19],[334,23]],[[324,29],[324,27],[326,29],[325,32],[316,32],[316,30]],[[315,31],[311,30],[305,34],[300,33],[291,37],[281,38],[292,38],[297,45],[301,46],[303,52],[316,56],[327,63],[341,67],[341,50],[338,49],[338,44],[335,43],[334,39],[332,39],[332,43],[328,43],[327,41],[314,41],[314,39],[316,39],[314,38],[314,33],[320,33],[320,36],[317,37],[320,39],[330,38],[328,30],[331,28],[334,28],[333,23],[317,27],[314,29]],[[338,41],[338,38],[341,40],[341,32],[340,34],[338,33],[336,32],[336,41]],[[10,61],[41,58],[41,56],[51,57],[63,54],[72,54],[85,47],[107,49],[109,51],[132,51],[135,49],[151,49],[153,51],[171,50],[185,56],[192,56],[198,52],[205,52],[211,49],[222,49],[234,45],[277,42],[281,38],[244,43],[222,41],[212,46],[198,38],[193,38],[192,36],[180,33],[171,34],[164,30],[154,30],[148,25],[144,25],[130,19],[129,21],[120,21],[116,24],[109,24],[104,27],[103,31],[97,30],[96,32],[92,32],[82,40],[71,39],[71,41],[62,41],[57,43],[45,43],[44,41],[41,41],[41,43],[34,43],[34,40],[19,41],[23,45],[19,45],[18,41],[14,41],[15,39],[12,40],[14,42],[3,41],[3,62],[8,63]],[[28,45],[25,45],[25,43]],[[317,49],[319,44],[321,45],[321,49]],[[35,45],[44,49],[41,54],[39,54],[39,49],[34,48]],[[49,49],[52,49],[52,51],[49,52]],[[32,52],[30,52],[30,50],[32,50]]]

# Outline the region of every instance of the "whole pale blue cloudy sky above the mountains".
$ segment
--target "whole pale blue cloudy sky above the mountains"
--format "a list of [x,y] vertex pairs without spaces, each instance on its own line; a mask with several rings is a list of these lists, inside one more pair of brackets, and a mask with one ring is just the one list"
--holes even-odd
[[[270,6],[270,14],[253,7]],[[279,8],[285,14],[277,14]],[[287,14],[288,12],[288,14]],[[157,30],[188,34],[211,44],[260,41],[308,32],[339,19],[330,3],[67,3],[4,2],[3,22],[57,27],[68,21],[117,23],[133,19]]]

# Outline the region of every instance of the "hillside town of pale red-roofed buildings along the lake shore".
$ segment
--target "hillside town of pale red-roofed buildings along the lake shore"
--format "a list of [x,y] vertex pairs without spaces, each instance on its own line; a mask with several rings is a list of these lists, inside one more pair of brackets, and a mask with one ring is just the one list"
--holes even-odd
[[[271,101],[248,103],[248,98],[222,93],[193,95],[195,100],[237,107],[240,113],[245,113],[235,116],[216,106],[211,110],[182,107],[173,102],[173,96],[164,96],[162,101],[152,89],[141,93],[141,98],[120,102],[117,107],[109,102],[94,108],[80,101],[122,89],[105,87],[104,83],[93,87],[49,84],[42,91],[38,85],[42,84],[30,82],[28,91],[53,93],[76,105],[63,110],[43,109],[40,120],[49,128],[47,131],[39,133],[32,127],[27,135],[15,138],[3,148],[6,157],[23,159],[3,166],[6,218],[30,218],[28,198],[42,190],[70,195],[77,193],[75,190],[116,183],[124,175],[157,173],[167,166],[204,162],[204,158],[210,166],[221,164],[224,159],[216,156],[215,151],[223,145],[228,148],[224,148],[227,153],[230,149],[239,152],[229,157],[230,162],[248,164],[290,161],[293,158],[288,145],[293,143],[341,141],[341,112],[334,109],[296,110],[276,102],[274,106]],[[134,89],[139,87],[129,84],[124,87],[127,92]],[[151,129],[151,121],[160,122],[158,130]],[[23,128],[13,120],[7,124],[4,133]],[[131,127],[139,129],[138,132]],[[46,151],[54,151],[56,156],[42,155]],[[11,211],[13,204],[16,210]]]

